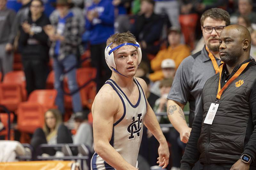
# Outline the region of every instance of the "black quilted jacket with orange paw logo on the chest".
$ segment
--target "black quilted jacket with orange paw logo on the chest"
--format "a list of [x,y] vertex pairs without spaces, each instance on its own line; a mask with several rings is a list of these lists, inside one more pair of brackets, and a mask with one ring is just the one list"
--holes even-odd
[[[221,87],[225,85],[225,78],[227,77],[227,80],[231,78],[241,65],[237,65],[229,77],[223,71]],[[236,87],[236,82],[239,80],[243,80],[244,83]],[[202,93],[204,110],[196,115],[193,122],[188,144],[181,160],[181,169],[191,169],[198,159],[204,164],[234,164],[244,153],[255,160],[255,60],[252,60],[240,76],[222,93],[212,125],[205,124],[204,119],[208,109],[216,100],[218,83],[219,74],[216,74],[204,85]]]

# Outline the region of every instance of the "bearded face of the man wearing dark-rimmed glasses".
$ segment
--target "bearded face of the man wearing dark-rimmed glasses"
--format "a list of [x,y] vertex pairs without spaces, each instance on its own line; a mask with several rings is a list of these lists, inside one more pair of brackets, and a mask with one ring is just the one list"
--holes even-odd
[[212,33],[205,33],[203,28],[205,26],[207,27],[226,26],[226,22],[216,20],[211,17],[207,17],[204,20],[203,26],[201,26],[205,44],[210,49],[210,51],[218,52],[220,47],[220,43],[219,43],[220,33],[217,33],[215,29],[212,29]]

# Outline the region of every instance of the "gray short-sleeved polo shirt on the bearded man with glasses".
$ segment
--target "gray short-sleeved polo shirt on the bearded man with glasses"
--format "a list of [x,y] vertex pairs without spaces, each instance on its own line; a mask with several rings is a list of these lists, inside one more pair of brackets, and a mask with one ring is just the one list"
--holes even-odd
[[[220,59],[215,58],[218,65]],[[202,51],[185,58],[178,67],[167,99],[186,105],[189,102],[189,127],[201,107],[202,90],[206,80],[215,75],[205,46]]]

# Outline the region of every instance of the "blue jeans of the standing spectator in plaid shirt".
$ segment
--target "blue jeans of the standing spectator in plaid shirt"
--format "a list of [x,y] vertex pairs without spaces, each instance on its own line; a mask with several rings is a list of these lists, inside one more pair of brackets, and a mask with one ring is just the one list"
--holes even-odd
[[[55,74],[54,88],[58,92],[55,103],[62,114],[65,114],[65,107],[64,107],[64,91],[63,91],[62,81],[60,80],[60,76],[64,73],[64,70],[69,70],[75,64],[76,64],[75,55],[68,55],[61,61],[58,61],[57,58],[53,58],[53,70]],[[77,90],[78,85],[76,81],[76,68],[66,73],[66,76],[68,77],[69,91],[73,92]],[[72,107],[73,107],[74,113],[82,111],[81,97],[80,97],[79,91],[72,95]]]

